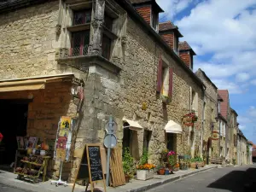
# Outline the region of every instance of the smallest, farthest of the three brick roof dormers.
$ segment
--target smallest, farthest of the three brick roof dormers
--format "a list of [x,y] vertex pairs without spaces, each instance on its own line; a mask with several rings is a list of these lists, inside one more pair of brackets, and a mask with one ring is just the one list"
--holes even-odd
[[182,61],[193,70],[193,56],[196,55],[194,50],[189,46],[189,44],[184,41],[178,44],[179,57]]

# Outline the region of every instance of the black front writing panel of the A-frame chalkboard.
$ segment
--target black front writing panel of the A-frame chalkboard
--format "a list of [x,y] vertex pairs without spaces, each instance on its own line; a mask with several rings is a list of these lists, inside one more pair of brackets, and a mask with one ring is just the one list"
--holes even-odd
[[100,146],[86,146],[88,159],[90,160],[90,177],[91,181],[103,179],[102,158]]

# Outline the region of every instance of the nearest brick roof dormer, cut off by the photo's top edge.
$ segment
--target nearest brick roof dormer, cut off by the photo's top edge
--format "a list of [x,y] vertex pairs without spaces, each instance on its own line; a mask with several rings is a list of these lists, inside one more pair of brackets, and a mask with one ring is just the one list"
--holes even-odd
[[151,26],[154,31],[159,32],[159,13],[164,12],[155,0],[130,0],[137,13]]

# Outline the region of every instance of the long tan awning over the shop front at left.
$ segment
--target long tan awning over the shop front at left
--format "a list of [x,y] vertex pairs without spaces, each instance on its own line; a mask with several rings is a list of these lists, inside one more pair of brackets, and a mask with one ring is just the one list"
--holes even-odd
[[45,89],[45,84],[59,82],[62,79],[71,79],[73,74],[61,74],[55,76],[33,77],[26,79],[7,79],[0,81],[0,92],[16,90],[41,90]]

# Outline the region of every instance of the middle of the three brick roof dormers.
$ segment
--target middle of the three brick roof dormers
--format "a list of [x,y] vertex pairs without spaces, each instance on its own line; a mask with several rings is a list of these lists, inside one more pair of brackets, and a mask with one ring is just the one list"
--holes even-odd
[[159,24],[159,34],[172,50],[178,55],[178,38],[183,35],[178,31],[178,27],[169,20]]

